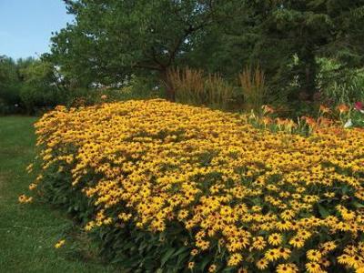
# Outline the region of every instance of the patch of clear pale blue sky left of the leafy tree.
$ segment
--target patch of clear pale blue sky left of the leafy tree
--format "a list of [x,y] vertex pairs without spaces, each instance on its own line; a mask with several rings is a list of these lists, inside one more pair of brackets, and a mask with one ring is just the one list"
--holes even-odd
[[52,31],[71,21],[62,0],[0,0],[0,56],[48,52]]

